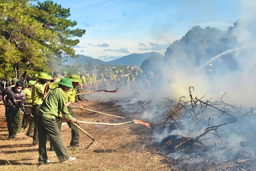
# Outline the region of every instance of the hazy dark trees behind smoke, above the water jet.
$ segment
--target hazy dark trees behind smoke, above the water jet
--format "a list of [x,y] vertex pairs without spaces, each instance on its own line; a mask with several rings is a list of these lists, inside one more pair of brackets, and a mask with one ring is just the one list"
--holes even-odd
[[[209,61],[214,56],[229,49],[236,48],[237,41],[233,28],[222,31],[217,28],[192,27],[180,40],[174,41],[165,52],[166,64],[186,64],[190,68],[196,68]],[[232,64],[232,56],[226,58]],[[234,65],[234,64],[232,64]]]

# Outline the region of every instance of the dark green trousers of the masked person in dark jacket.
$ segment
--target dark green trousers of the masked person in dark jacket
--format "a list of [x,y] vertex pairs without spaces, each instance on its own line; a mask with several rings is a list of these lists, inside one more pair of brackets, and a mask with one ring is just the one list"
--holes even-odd
[[21,129],[20,109],[14,110],[12,108],[6,108],[5,116],[6,116],[9,136],[13,136],[13,135],[16,135],[17,133],[20,133],[20,129]]

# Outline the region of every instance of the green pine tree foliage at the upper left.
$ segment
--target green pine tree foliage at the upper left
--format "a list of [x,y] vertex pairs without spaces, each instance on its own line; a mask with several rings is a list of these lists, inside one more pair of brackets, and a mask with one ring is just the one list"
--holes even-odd
[[[26,71],[52,71],[62,58],[75,57],[73,46],[85,30],[70,21],[70,9],[52,1],[0,0],[0,77],[25,75]],[[24,74],[23,74],[24,73]]]

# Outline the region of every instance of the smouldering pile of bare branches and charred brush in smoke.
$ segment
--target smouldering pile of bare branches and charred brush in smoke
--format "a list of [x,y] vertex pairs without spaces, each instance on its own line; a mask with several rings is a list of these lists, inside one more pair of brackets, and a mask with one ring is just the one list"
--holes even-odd
[[203,98],[192,98],[191,91],[190,101],[181,100],[184,96],[178,102],[166,98],[169,105],[160,108],[168,107],[156,124],[154,150],[166,156],[172,167],[184,170],[256,170],[251,151],[255,149],[241,148],[239,141],[248,138],[245,134],[255,123],[254,109],[246,111],[222,98],[215,102]]

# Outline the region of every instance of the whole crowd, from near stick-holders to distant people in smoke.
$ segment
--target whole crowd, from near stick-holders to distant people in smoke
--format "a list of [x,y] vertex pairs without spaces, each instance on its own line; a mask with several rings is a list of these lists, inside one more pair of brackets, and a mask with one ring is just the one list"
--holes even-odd
[[22,128],[27,128],[26,136],[32,138],[32,145],[38,145],[39,165],[50,162],[47,159],[47,140],[50,141],[49,150],[55,151],[60,162],[75,160],[68,155],[60,130],[64,117],[71,128],[70,146],[80,145],[75,125],[77,116],[69,107],[76,99],[84,100],[78,93],[106,88],[119,88],[120,91],[148,89],[162,82],[162,77],[161,73],[153,75],[152,72],[144,73],[142,69],[127,68],[98,75],[79,71],[71,75],[65,71],[40,72],[28,79],[13,78],[11,84],[2,80],[0,103],[6,109],[8,138],[15,139]]

